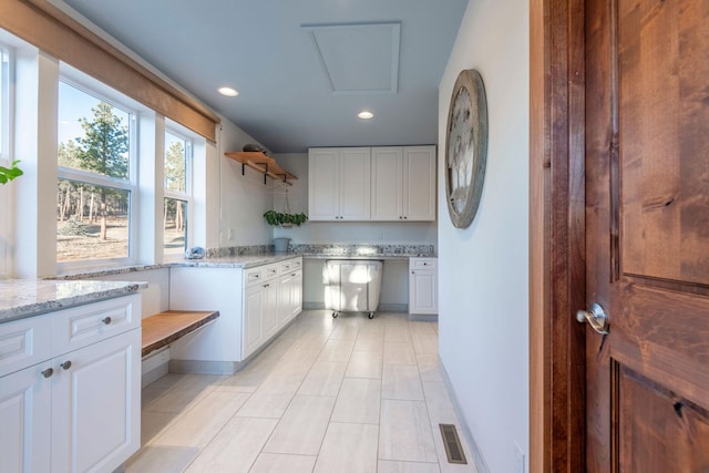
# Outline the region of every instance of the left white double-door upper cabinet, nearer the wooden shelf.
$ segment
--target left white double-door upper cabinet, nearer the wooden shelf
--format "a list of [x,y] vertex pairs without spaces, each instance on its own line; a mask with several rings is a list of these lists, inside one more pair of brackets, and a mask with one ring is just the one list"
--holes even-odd
[[308,218],[370,219],[370,148],[311,148],[308,152]]

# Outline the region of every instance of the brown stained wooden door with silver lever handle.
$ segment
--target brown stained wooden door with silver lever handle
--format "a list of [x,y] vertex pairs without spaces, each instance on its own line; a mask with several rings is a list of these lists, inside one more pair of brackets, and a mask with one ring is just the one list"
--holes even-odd
[[586,2],[590,472],[709,471],[709,2]]

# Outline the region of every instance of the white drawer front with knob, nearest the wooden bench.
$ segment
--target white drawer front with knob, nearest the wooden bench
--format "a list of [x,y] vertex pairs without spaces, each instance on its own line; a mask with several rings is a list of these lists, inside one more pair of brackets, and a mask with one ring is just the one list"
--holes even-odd
[[140,326],[140,295],[62,310],[52,316],[52,353],[86,347]]

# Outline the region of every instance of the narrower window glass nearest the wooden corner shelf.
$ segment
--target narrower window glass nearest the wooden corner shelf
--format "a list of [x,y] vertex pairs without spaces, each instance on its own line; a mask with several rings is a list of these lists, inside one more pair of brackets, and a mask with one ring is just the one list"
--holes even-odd
[[192,196],[192,141],[177,132],[165,133],[165,204],[163,253],[182,255],[187,248]]

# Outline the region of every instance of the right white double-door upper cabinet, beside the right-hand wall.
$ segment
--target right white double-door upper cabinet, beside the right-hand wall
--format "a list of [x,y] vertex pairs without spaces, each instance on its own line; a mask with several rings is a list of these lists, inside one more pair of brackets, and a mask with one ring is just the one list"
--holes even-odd
[[435,220],[435,146],[372,148],[372,220]]

